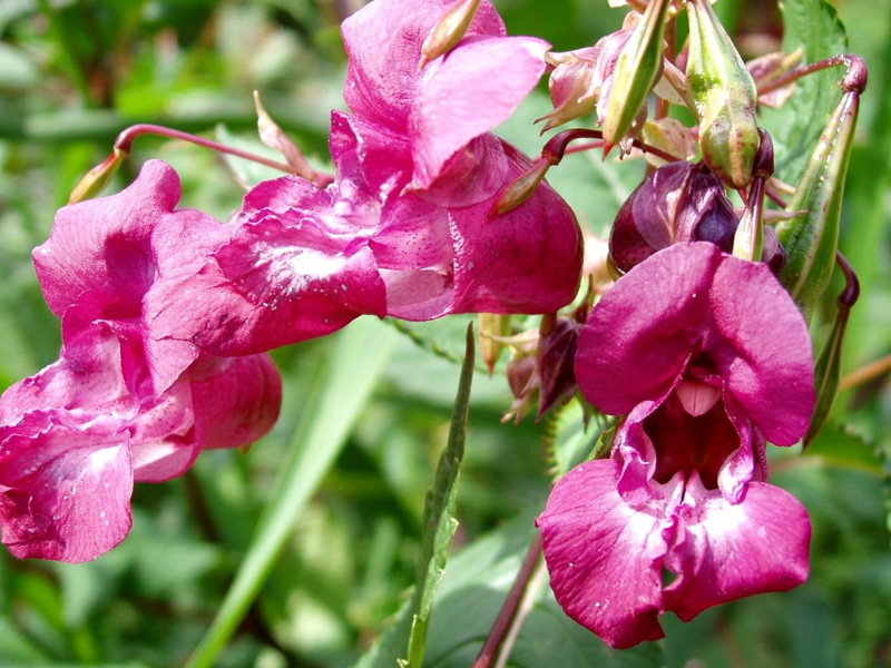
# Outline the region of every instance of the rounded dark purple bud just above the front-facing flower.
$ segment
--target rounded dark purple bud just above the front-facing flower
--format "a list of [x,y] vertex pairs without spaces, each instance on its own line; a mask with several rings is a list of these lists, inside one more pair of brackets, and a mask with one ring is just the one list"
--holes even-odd
[[670,163],[650,174],[621,205],[609,253],[621,272],[681,242],[711,242],[728,253],[737,225],[721,179],[702,163]]

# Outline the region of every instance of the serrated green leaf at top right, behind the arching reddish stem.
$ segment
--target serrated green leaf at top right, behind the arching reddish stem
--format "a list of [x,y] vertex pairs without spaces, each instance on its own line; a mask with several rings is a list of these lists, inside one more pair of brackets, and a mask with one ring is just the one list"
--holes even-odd
[[[825,0],[786,0],[783,51],[804,49],[803,65],[848,51],[848,36],[835,9]],[[792,99],[780,109],[763,109],[762,122],[776,151],[776,176],[796,183],[811,151],[841,97],[844,71],[830,68],[799,81]]]

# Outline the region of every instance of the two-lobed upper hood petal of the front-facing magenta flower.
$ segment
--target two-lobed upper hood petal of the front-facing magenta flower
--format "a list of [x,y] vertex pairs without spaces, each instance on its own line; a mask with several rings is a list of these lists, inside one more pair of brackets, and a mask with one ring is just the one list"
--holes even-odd
[[664,396],[699,353],[767,439],[804,435],[815,403],[804,318],[766,265],[709,243],[675,244],[618,281],[581,333],[576,375],[588,401],[621,414]]

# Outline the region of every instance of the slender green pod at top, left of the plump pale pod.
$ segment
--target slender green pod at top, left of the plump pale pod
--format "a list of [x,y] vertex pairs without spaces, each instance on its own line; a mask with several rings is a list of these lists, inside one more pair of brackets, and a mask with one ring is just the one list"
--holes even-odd
[[607,151],[631,129],[662,76],[669,0],[652,0],[621,49],[603,112]]

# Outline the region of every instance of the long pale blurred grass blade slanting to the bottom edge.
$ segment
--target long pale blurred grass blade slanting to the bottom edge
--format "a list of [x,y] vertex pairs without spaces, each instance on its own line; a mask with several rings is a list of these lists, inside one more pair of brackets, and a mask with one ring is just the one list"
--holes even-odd
[[337,334],[331,367],[307,393],[315,405],[295,434],[247,553],[188,668],[213,666],[232,638],[291,534],[294,518],[343,448],[395,340],[389,327],[371,317]]

